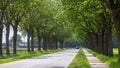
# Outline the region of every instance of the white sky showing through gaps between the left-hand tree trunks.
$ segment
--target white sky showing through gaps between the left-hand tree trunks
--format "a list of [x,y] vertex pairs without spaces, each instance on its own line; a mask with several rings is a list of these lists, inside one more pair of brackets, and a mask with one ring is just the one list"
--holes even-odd
[[[20,34],[22,36],[21,32],[19,32],[19,31],[18,31],[18,34]],[[12,36],[13,36],[13,29],[12,29],[12,27],[10,27],[10,38]],[[2,43],[5,43],[5,40],[6,40],[6,29],[5,28],[3,29],[3,38],[2,38],[2,40],[3,40]],[[22,36],[22,41],[26,42],[27,41],[27,37],[23,37]]]

